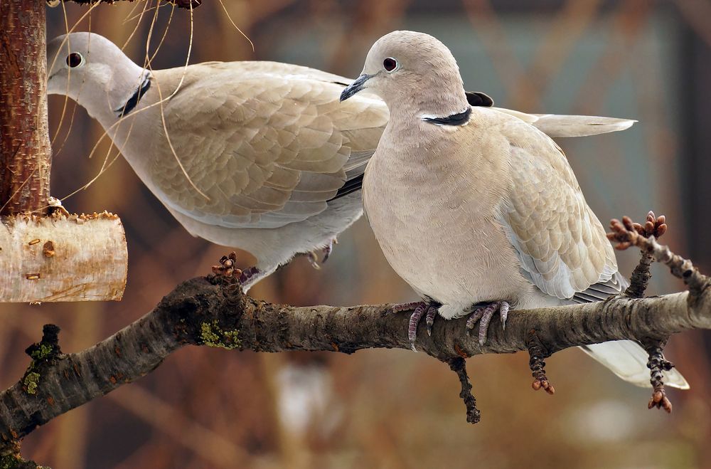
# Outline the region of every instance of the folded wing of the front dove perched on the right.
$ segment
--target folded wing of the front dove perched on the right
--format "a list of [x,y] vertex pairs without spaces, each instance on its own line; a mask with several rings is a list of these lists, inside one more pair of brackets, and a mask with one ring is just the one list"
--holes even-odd
[[565,154],[542,132],[507,122],[512,190],[501,218],[525,276],[560,299],[619,292],[614,251]]

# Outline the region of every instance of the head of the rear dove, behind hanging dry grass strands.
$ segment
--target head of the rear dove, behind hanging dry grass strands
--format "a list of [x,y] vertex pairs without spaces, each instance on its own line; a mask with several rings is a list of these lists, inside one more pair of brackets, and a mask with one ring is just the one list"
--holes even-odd
[[116,117],[148,77],[114,43],[95,33],[70,33],[47,44],[47,93],[66,95],[94,117]]

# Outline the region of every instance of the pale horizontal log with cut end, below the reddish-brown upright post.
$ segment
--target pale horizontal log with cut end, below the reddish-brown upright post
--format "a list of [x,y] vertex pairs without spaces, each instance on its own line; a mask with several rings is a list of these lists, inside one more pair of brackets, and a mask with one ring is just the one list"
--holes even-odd
[[118,216],[0,220],[0,302],[121,300],[128,251]]

